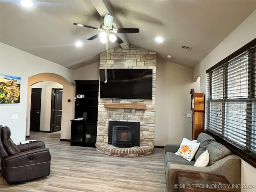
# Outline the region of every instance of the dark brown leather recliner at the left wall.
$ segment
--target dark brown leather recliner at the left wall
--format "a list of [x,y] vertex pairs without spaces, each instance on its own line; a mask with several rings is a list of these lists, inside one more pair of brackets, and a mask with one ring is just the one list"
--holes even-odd
[[1,170],[7,183],[22,183],[50,174],[50,152],[44,142],[16,145],[11,131],[0,125]]

